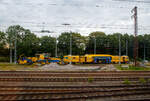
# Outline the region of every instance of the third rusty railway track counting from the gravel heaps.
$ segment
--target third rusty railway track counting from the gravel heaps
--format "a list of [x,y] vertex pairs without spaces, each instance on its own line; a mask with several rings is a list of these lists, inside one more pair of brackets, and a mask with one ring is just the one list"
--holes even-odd
[[109,92],[109,91],[118,91],[118,90],[150,90],[150,86],[148,85],[122,85],[122,86],[3,86],[3,88],[0,88],[0,94],[9,93],[11,94],[13,92],[50,92],[50,93],[56,93],[56,92],[90,92],[90,91],[102,91],[102,92]]

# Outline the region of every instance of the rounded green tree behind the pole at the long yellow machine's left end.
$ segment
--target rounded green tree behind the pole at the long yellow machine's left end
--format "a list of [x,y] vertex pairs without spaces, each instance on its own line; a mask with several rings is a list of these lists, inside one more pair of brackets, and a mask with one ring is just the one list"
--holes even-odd
[[[72,34],[72,35],[70,35]],[[86,38],[79,33],[64,32],[58,38],[60,55],[70,54],[70,37],[72,36],[72,54],[82,55],[86,47]]]

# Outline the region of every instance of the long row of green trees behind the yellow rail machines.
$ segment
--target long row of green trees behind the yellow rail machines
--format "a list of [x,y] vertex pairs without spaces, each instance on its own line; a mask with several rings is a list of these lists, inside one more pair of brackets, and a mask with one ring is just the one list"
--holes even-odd
[[[0,31],[0,57],[9,57],[10,48],[14,53],[15,40],[17,46],[17,57],[24,54],[31,57],[37,53],[50,53],[55,57],[57,42],[57,52],[59,57],[68,55],[70,52],[70,38],[72,38],[72,54],[84,55],[94,54],[96,43],[97,54],[119,54],[119,35],[121,38],[121,54],[133,58],[134,36],[122,33],[106,34],[104,32],[92,32],[88,36],[82,36],[76,32],[63,32],[56,39],[52,36],[38,37],[29,29],[19,25],[10,26],[6,32]],[[142,60],[144,53],[147,60],[150,60],[150,35],[138,35],[138,58]],[[13,54],[14,55],[14,54]]]

